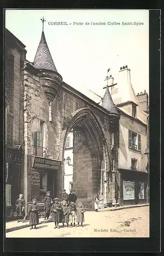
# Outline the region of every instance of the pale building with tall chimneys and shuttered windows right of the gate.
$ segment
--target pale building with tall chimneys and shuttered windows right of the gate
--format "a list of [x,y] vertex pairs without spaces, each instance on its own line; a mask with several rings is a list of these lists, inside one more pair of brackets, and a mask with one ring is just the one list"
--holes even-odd
[[119,125],[119,198],[120,204],[149,201],[148,157],[148,94],[135,95],[130,69],[121,67],[118,83],[109,78],[109,87],[121,117]]

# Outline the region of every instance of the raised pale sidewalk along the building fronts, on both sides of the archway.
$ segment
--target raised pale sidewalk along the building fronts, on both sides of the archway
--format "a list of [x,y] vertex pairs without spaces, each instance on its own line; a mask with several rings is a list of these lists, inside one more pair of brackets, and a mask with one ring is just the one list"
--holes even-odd
[[[136,205],[125,205],[125,206],[119,206],[119,207],[107,207],[107,208],[103,208],[103,209],[99,209],[98,211],[113,211],[113,210],[121,210],[121,209],[128,209],[128,208],[135,208],[135,207],[143,207],[143,206],[148,206],[149,204],[136,204]],[[42,223],[47,223],[50,221],[47,221],[43,218],[39,219],[39,224]],[[6,222],[6,232],[11,232],[14,230],[18,230],[18,229],[22,229],[22,228],[26,228],[26,227],[30,227],[31,225],[29,224],[29,220],[24,220],[24,223],[19,222],[17,223],[17,221],[9,221]]]

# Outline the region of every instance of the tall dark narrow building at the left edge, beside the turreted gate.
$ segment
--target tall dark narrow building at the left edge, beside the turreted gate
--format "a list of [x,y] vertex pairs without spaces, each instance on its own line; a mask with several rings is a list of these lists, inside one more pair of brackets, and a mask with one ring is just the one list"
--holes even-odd
[[25,46],[5,30],[5,181],[6,218],[12,218],[15,202],[22,193],[23,110],[21,104],[21,68]]

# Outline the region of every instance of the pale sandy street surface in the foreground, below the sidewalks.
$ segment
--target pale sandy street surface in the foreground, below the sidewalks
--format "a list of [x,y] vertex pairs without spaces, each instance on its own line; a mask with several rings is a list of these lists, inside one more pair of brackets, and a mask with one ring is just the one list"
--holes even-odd
[[[18,223],[19,224],[19,223]],[[53,222],[7,232],[6,238],[149,238],[149,206],[116,211],[86,211],[83,227],[54,229]]]

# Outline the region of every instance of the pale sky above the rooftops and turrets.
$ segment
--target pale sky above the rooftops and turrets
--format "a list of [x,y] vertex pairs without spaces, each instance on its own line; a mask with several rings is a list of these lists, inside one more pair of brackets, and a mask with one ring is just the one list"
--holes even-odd
[[[30,62],[34,61],[41,38],[43,16],[47,45],[64,82],[86,95],[92,90],[102,97],[107,70],[111,69],[108,75],[117,82],[120,67],[127,65],[135,94],[144,90],[149,94],[148,10],[8,9],[6,28],[26,46]],[[68,25],[49,25],[55,22]],[[110,22],[120,25],[108,25]]]

